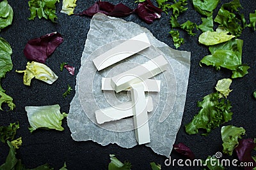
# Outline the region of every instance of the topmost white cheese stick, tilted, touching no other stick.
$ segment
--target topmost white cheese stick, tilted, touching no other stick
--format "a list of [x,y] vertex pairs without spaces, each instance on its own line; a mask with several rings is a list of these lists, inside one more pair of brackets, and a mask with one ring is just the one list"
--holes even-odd
[[134,38],[124,41],[124,43],[115,46],[111,50],[102,53],[92,61],[97,70],[100,71],[112,64],[115,64],[116,62],[119,62],[120,60],[124,60],[125,58],[134,55],[134,53],[138,53],[141,50],[148,48],[148,46],[150,46],[150,42],[144,32]]

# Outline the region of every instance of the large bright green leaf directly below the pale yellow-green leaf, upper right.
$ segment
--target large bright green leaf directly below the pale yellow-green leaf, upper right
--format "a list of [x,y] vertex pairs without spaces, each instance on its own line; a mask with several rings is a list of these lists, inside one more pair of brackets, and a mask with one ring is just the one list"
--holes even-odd
[[201,64],[214,66],[217,70],[224,67],[232,70],[232,78],[243,77],[250,67],[242,64],[242,48],[243,40],[241,39],[231,39],[225,43],[210,46],[211,55],[200,60],[200,66]]

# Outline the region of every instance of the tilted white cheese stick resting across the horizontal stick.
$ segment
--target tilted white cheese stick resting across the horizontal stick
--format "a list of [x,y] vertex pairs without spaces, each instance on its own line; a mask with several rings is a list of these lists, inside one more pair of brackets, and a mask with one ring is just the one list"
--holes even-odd
[[152,78],[168,67],[168,61],[163,55],[145,62],[144,64],[134,67],[124,73],[118,74],[111,78],[111,86],[116,92],[128,89],[132,84],[140,83],[148,78]]

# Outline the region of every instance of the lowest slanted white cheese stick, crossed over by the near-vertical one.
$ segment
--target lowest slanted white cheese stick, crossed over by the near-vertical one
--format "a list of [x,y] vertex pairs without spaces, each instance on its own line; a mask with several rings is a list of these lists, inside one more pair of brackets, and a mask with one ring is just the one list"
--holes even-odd
[[[146,97],[147,101],[147,111],[150,112],[153,110],[153,101],[152,97]],[[113,120],[120,120],[126,117],[132,117],[132,102],[126,102],[118,104],[113,107],[105,108],[102,110],[95,111],[95,116],[98,124],[103,124],[104,122],[110,122]]]

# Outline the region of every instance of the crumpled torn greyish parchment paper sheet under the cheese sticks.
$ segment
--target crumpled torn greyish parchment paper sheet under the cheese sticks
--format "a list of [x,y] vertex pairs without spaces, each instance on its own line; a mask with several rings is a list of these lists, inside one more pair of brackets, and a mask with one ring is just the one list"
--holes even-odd
[[[143,32],[146,32],[152,44],[150,48],[112,67],[97,71],[92,59],[112,46],[122,43],[124,39],[132,38]],[[154,102],[154,110],[148,113],[151,141],[146,146],[160,155],[169,157],[184,111],[190,52],[173,50],[154,38],[148,29],[102,13],[95,14],[91,20],[81,57],[81,68],[76,81],[76,95],[70,103],[67,117],[72,138],[75,141],[92,140],[102,146],[116,143],[124,148],[131,148],[138,145],[135,139],[133,118],[97,124],[96,110],[131,100],[129,92],[115,94],[112,91],[100,90],[101,78],[122,73],[159,54],[166,57],[170,62],[170,67],[164,73],[154,77],[156,80],[161,80],[161,92],[146,93],[146,96],[152,96]]]

